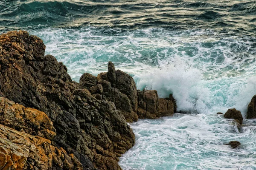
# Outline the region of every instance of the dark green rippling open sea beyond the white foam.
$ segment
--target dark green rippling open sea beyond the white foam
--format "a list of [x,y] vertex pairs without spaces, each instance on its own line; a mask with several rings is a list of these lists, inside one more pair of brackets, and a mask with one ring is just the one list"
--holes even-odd
[[[81,1],[3,0],[0,27],[14,29],[40,25],[52,27],[111,26],[115,28],[163,27],[174,29],[216,28],[232,31],[244,28],[252,34],[256,23],[256,1]],[[218,24],[216,24],[218,22]],[[255,35],[255,33],[254,33]]]

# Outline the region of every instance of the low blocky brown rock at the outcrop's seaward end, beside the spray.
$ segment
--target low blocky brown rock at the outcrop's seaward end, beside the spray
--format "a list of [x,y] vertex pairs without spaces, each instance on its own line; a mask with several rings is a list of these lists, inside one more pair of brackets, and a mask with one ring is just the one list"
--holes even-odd
[[174,114],[175,106],[173,98],[158,98],[157,91],[146,90],[138,93],[138,116],[140,119],[155,119],[161,116],[171,116]]

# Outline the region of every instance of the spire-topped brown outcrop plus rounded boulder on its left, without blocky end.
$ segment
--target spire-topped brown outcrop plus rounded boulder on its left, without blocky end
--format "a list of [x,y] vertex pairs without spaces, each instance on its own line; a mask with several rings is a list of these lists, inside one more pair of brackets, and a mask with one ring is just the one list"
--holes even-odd
[[81,88],[87,88],[91,94],[95,94],[96,99],[103,98],[114,102],[127,122],[138,120],[137,89],[134,79],[120,70],[116,71],[112,62],[108,63],[107,73],[101,73],[98,77],[85,73],[79,84]]

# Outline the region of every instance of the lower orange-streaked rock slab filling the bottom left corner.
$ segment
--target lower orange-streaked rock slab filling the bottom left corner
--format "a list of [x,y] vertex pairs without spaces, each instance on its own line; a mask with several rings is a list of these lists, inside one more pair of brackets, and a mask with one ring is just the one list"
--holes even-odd
[[0,125],[0,170],[82,170],[81,163],[63,148],[39,136]]

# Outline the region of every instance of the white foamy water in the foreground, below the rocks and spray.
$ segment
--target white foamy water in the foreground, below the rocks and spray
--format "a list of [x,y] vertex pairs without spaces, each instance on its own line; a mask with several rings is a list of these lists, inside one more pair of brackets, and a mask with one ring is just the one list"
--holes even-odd
[[[131,124],[136,144],[119,161],[124,170],[255,170],[256,122],[239,133],[223,115],[175,114]],[[241,142],[233,149],[224,145]]]

